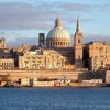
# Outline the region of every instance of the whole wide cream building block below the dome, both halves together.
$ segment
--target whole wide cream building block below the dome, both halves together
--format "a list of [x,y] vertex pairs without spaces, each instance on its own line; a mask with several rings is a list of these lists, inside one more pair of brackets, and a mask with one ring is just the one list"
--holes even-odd
[[65,57],[54,50],[24,51],[19,56],[20,69],[63,69]]

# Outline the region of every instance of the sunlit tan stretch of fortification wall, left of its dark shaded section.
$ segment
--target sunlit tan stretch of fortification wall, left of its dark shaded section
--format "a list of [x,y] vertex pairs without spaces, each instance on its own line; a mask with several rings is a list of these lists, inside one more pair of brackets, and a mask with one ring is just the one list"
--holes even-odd
[[78,75],[82,72],[73,70],[0,70],[0,75],[10,75],[12,80],[20,78],[61,78],[69,77],[72,80],[78,80]]

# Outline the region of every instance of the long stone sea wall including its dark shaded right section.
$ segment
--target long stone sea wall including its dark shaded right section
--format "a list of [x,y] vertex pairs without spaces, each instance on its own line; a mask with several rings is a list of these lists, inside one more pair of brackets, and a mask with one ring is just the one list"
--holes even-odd
[[79,72],[79,70],[0,70],[0,75],[10,75],[11,80],[21,78],[48,78],[57,79],[69,77],[73,81],[86,79],[102,79],[103,82],[110,82],[110,70],[105,72]]

